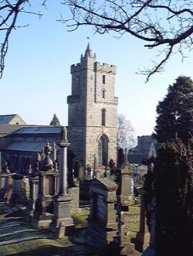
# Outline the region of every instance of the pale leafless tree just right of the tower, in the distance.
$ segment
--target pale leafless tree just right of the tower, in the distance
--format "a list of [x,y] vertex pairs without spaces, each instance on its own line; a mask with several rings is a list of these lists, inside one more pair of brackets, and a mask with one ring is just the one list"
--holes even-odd
[[117,114],[117,148],[134,145],[134,128],[124,114]]

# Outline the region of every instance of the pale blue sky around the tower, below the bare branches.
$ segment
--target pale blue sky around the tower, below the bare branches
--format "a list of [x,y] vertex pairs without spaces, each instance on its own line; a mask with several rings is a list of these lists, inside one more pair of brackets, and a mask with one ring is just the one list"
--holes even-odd
[[145,77],[137,74],[151,66],[156,52],[145,49],[143,42],[124,35],[95,35],[89,27],[67,32],[65,25],[56,22],[63,8],[53,2],[42,19],[25,15],[9,42],[5,73],[0,80],[1,113],[19,114],[27,124],[49,125],[56,114],[62,125],[67,125],[66,97],[71,94],[70,65],[80,62],[80,55],[90,47],[100,63],[117,66],[116,96],[118,113],[126,114],[138,135],[151,135],[155,125],[155,109],[175,78],[185,75],[193,78],[192,57],[175,54],[162,74],[154,74],[145,84]]

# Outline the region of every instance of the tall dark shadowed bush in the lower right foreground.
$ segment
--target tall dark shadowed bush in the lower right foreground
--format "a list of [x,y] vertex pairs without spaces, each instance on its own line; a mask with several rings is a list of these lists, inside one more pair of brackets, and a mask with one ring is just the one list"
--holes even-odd
[[168,142],[154,168],[157,256],[193,255],[193,144]]

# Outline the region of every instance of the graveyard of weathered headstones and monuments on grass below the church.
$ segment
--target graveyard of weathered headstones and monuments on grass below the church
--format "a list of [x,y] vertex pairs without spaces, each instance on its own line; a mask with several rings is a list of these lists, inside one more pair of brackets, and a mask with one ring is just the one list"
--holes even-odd
[[74,180],[89,187],[90,200],[81,200],[80,185],[67,186],[65,128],[59,146],[63,155],[59,169],[49,156],[53,148],[48,144],[44,159],[37,165],[41,167],[33,170],[29,166],[28,176],[12,174],[8,166],[2,169],[1,255],[97,256],[112,250],[117,250],[117,255],[139,255],[131,241],[140,230],[140,197],[134,201],[127,157],[119,177],[110,168],[88,168],[84,180]]

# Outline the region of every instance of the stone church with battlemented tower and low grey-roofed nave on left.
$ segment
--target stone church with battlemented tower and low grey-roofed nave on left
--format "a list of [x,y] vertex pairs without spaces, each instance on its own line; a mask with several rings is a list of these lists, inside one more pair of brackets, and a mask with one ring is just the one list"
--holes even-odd
[[[81,166],[107,166],[117,160],[117,97],[114,97],[116,67],[100,64],[87,46],[80,63],[72,65],[69,106],[69,152]],[[0,154],[11,172],[28,172],[46,142],[58,144],[61,126],[26,125],[17,114],[0,115]],[[70,150],[71,149],[71,150]],[[1,159],[1,158],[0,158]],[[1,162],[1,161],[0,161]]]

